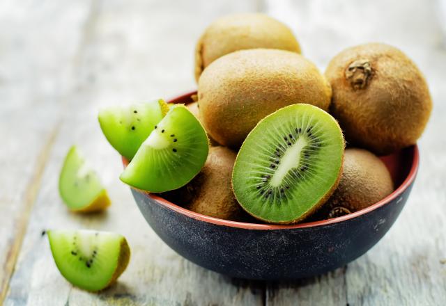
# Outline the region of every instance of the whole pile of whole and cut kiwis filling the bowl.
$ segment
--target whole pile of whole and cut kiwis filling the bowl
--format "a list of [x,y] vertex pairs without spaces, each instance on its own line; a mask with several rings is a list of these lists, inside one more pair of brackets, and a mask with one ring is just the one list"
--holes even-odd
[[123,182],[226,220],[293,224],[382,200],[394,182],[378,156],[415,145],[432,108],[399,49],[351,47],[322,74],[289,27],[263,14],[210,24],[194,74],[194,103],[111,108],[99,119],[130,161]]

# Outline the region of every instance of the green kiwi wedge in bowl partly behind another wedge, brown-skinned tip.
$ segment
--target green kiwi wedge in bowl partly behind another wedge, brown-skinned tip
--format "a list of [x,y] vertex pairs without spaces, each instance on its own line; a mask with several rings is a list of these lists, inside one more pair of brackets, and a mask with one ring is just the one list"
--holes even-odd
[[167,111],[169,106],[160,99],[144,104],[102,108],[98,120],[112,147],[125,158],[132,159]]

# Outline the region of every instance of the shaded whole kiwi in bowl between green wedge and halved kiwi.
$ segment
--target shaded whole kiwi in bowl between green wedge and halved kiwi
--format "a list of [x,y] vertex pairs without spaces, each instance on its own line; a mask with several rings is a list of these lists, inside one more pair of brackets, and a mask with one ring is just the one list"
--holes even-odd
[[243,211],[231,188],[235,161],[236,153],[227,147],[210,147],[201,172],[186,186],[162,193],[162,196],[199,214],[239,220]]

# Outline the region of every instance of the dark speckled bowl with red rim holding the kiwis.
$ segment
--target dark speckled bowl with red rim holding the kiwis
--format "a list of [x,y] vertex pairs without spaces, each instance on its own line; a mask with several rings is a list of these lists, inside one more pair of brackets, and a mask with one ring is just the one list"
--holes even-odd
[[[190,103],[195,92],[171,99]],[[179,255],[210,270],[252,280],[295,280],[344,266],[392,227],[412,189],[417,146],[381,158],[396,190],[353,214],[297,225],[222,220],[194,213],[159,195],[131,188],[141,214]],[[123,159],[124,166],[128,163]]]

